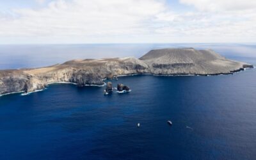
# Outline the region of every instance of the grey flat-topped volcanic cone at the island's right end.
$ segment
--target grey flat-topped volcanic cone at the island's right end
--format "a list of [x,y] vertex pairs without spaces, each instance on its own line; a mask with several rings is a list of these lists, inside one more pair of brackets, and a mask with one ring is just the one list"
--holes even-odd
[[140,60],[147,63],[152,74],[229,74],[249,66],[227,60],[212,50],[193,48],[152,50]]

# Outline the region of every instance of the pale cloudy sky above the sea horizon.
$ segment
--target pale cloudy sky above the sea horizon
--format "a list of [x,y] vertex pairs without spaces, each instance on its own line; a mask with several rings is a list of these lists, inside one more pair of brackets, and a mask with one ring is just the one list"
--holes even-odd
[[0,0],[0,44],[255,42],[255,0]]

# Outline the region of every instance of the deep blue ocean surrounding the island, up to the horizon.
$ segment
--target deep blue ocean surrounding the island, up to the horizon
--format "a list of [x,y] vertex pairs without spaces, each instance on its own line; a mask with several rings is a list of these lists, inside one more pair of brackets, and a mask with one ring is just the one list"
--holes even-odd
[[[0,68],[140,57],[170,46],[212,48],[256,65],[253,44],[2,45]],[[255,79],[255,69],[209,77],[127,76],[112,81],[131,87],[124,94],[52,84],[43,92],[6,95],[0,97],[0,159],[255,159]]]

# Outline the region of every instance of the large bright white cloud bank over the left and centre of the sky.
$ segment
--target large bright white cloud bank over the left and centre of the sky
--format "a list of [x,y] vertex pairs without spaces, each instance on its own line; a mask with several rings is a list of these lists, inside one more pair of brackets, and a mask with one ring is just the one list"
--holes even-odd
[[1,19],[0,35],[118,35],[147,32],[143,24],[164,10],[153,0],[52,1],[40,10],[15,10]]

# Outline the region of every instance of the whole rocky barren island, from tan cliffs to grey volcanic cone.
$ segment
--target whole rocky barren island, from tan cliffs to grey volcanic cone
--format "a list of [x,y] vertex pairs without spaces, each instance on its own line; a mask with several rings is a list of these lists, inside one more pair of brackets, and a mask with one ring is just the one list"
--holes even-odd
[[227,60],[214,51],[195,49],[158,49],[136,58],[72,60],[51,67],[0,70],[0,95],[33,92],[49,83],[67,82],[77,86],[102,85],[102,79],[127,74],[230,74],[252,67],[247,63]]

